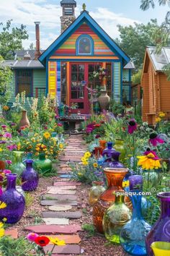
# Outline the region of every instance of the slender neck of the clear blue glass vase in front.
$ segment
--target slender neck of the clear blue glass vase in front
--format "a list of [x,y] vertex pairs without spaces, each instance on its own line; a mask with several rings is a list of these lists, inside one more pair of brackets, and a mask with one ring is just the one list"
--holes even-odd
[[138,218],[141,220],[143,219],[141,208],[142,195],[139,195],[139,192],[137,192],[136,190],[132,190],[130,192],[134,193],[134,195],[130,197],[133,203],[133,218]]

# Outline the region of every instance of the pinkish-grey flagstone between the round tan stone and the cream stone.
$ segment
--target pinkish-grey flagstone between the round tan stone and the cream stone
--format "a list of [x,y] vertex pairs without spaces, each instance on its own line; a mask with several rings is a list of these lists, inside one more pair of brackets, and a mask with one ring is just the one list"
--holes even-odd
[[82,213],[79,211],[72,212],[42,212],[43,218],[81,218]]

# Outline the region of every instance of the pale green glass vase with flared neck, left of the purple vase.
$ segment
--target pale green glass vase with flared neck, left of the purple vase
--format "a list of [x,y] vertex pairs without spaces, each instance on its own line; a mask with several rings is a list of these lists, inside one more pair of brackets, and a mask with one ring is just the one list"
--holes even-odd
[[22,155],[24,152],[22,151],[13,151],[12,152],[14,155],[14,160],[12,163],[12,173],[17,174],[18,176],[20,176],[22,174],[22,171],[24,171],[24,163],[22,163]]

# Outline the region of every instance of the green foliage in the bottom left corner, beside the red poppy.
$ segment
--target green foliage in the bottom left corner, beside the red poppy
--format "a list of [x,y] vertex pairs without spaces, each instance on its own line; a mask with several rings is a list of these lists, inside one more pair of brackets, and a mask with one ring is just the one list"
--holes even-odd
[[35,244],[28,242],[23,236],[19,239],[3,236],[0,239],[0,252],[3,256],[33,256],[34,249]]

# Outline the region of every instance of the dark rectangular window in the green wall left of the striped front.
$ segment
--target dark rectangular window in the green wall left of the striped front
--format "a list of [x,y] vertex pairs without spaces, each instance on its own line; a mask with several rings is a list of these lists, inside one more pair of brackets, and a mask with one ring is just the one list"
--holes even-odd
[[20,69],[16,71],[16,94],[25,91],[26,97],[32,97],[32,70]]

